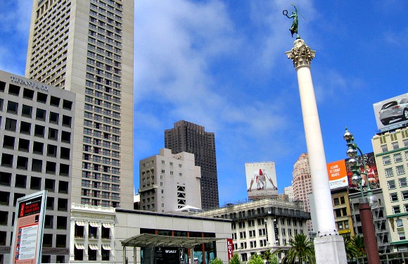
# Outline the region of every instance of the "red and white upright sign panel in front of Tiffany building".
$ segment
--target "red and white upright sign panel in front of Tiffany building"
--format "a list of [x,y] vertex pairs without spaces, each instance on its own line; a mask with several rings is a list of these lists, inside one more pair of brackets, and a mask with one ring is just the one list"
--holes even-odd
[[46,191],[17,199],[10,264],[40,264]]

